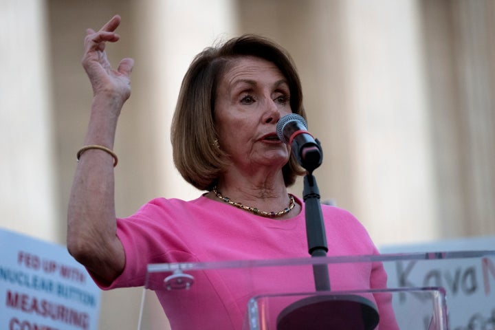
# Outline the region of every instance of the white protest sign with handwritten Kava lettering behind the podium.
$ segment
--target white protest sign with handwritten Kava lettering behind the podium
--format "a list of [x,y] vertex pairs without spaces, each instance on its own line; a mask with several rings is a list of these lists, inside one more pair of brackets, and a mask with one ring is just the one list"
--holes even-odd
[[[434,243],[394,245],[380,248],[380,252],[426,252],[429,260],[403,260],[385,263],[388,287],[443,287],[446,293],[449,329],[495,329],[495,256],[476,258],[444,258],[442,252],[469,252],[495,250],[495,237],[456,239]],[[466,255],[468,255],[466,253]],[[446,256],[446,254],[445,254]],[[428,259],[428,258],[427,258]],[[395,309],[406,306],[406,299],[417,296],[399,296],[393,301]],[[408,311],[414,313],[414,311]],[[421,315],[417,315],[421,318]],[[429,320],[424,320],[428,329]]]

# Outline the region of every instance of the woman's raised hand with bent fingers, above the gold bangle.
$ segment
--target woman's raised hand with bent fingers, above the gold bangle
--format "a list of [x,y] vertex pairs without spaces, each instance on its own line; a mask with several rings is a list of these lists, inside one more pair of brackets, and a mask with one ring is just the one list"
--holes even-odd
[[107,42],[115,43],[120,39],[115,33],[119,24],[120,16],[115,15],[98,32],[87,29],[85,54],[81,62],[93,87],[94,96],[117,98],[123,104],[131,96],[131,71],[134,61],[132,58],[123,58],[115,70],[105,52]]

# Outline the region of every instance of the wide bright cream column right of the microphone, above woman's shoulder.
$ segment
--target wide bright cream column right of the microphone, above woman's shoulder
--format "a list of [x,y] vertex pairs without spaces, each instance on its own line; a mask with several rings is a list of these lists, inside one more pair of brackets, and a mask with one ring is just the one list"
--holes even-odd
[[380,243],[436,239],[419,5],[351,0],[343,8],[356,213]]

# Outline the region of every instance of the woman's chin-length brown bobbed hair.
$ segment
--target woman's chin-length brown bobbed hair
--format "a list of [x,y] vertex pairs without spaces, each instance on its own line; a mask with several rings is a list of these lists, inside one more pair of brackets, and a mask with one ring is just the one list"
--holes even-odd
[[[232,60],[255,56],[274,63],[287,79],[293,113],[306,118],[303,91],[296,67],[286,50],[269,39],[245,34],[208,47],[189,66],[179,93],[173,116],[171,140],[173,159],[182,177],[199,190],[212,190],[219,175],[229,166],[228,157],[215,146],[214,105],[217,85]],[[291,155],[283,167],[285,186],[291,186],[297,175],[303,175]]]

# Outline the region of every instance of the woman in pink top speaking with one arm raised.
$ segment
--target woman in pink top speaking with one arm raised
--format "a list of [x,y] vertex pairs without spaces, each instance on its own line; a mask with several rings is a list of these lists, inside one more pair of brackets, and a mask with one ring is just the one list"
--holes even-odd
[[[300,80],[289,56],[256,36],[206,49],[182,83],[172,125],[174,161],[186,181],[208,192],[193,201],[154,199],[115,220],[111,149],[133,67],[124,58],[112,69],[104,52],[105,43],[118,41],[119,24],[115,16],[98,32],[87,30],[85,39],[82,62],[94,100],[69,201],[69,252],[103,289],[144,285],[148,263],[308,256],[304,204],[287,193],[303,170],[275,133],[283,115],[305,116]],[[331,255],[377,253],[351,214],[327,206],[322,212]],[[356,267],[349,269],[353,276],[332,274],[333,287],[385,287],[380,265]],[[300,276],[286,274],[277,289],[314,290],[309,281],[298,283]],[[248,299],[274,289],[273,283],[243,284],[236,276],[208,278],[208,303],[195,306],[163,294],[159,299],[173,329],[241,329]],[[391,314],[382,313],[390,302],[376,303],[380,325],[393,329]],[[212,313],[221,316],[210,320]]]

